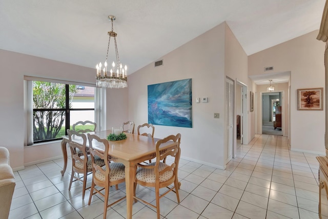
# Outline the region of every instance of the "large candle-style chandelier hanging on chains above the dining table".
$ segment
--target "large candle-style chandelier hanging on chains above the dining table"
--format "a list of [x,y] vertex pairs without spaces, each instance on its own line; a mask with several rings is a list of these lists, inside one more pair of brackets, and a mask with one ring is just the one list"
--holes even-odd
[[[107,47],[107,55],[106,61],[104,63],[104,68],[101,63],[97,64],[97,75],[96,75],[96,86],[100,88],[126,88],[128,87],[128,69],[127,66],[124,68],[119,61],[117,44],[116,44],[116,36],[117,33],[113,30],[113,21],[116,19],[114,15],[109,15],[108,19],[112,22],[112,30],[108,31],[109,39],[108,39],[108,47]],[[112,67],[110,67],[109,74],[107,73],[107,58],[108,58],[108,51],[109,51],[109,44],[111,41],[111,37],[114,37],[114,44],[115,44],[115,53],[116,53],[116,64],[115,62],[112,63]],[[115,68],[116,67],[116,68]],[[101,74],[101,70],[103,74]]]

